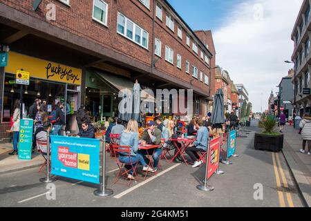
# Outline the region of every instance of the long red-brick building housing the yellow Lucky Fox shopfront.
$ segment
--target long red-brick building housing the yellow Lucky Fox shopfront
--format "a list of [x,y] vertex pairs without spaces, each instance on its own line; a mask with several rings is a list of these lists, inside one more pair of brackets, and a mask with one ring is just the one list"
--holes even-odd
[[194,114],[207,113],[212,54],[167,1],[35,2],[37,8],[32,0],[0,3],[0,43],[10,47],[8,66],[0,69],[1,122],[10,121],[19,98],[10,84],[19,69],[30,72],[25,114],[36,97],[50,106],[67,100],[72,130],[80,104],[94,121],[111,117],[118,91],[136,79],[153,91],[192,88]]

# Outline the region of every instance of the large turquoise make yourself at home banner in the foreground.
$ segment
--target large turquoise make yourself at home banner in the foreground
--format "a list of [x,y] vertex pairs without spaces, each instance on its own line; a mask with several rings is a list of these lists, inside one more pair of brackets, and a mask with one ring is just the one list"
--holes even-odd
[[50,136],[51,174],[100,184],[100,140]]

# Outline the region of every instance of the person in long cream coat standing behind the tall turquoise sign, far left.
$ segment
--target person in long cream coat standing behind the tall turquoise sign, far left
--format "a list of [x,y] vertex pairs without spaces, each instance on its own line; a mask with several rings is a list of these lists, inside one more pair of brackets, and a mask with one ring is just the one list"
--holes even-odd
[[19,122],[21,120],[21,108],[20,108],[20,102],[19,99],[16,99],[13,106],[13,117],[12,122],[13,125],[11,127],[11,131],[13,131],[13,151],[9,153],[9,155],[15,155],[17,154],[17,144],[19,142]]

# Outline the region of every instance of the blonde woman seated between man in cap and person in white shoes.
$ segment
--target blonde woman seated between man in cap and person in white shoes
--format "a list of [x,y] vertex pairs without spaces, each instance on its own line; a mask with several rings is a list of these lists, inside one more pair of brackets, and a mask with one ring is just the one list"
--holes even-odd
[[[164,148],[168,148],[169,150],[173,150],[176,148],[175,144],[173,141],[171,141],[171,139],[178,139],[178,135],[176,133],[174,133],[174,128],[175,128],[175,123],[170,120],[167,123],[167,127],[164,128],[163,132],[162,132],[162,137],[164,139]],[[181,144],[176,142],[176,144],[178,145],[178,148],[181,148]],[[178,149],[176,148],[174,155],[176,155],[176,153],[178,152]],[[182,158],[180,157],[180,154],[178,153],[178,155],[175,157],[174,161],[176,163],[182,163]]]

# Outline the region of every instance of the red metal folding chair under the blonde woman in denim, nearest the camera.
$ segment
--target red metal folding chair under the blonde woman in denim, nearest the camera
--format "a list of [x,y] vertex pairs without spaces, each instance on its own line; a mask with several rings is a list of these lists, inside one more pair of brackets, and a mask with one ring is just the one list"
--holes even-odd
[[[131,146],[113,145],[113,152],[115,153],[115,155],[119,155],[119,154],[129,155],[129,158],[130,158],[129,163],[124,163],[119,160],[119,157],[115,157],[115,162],[117,162],[119,171],[117,172],[117,175],[115,176],[115,181],[113,182],[113,184],[116,184],[120,180],[121,177],[124,177],[124,175],[126,175],[125,178],[127,179],[127,176],[129,175],[129,171],[131,171],[131,169],[133,169],[133,177],[135,177],[135,180],[136,180],[138,178],[138,175],[136,173],[138,162],[132,162]],[[124,168],[124,166],[126,165],[131,166],[131,169]],[[133,182],[133,180],[129,180],[127,182],[127,185],[130,186],[131,182]]]

